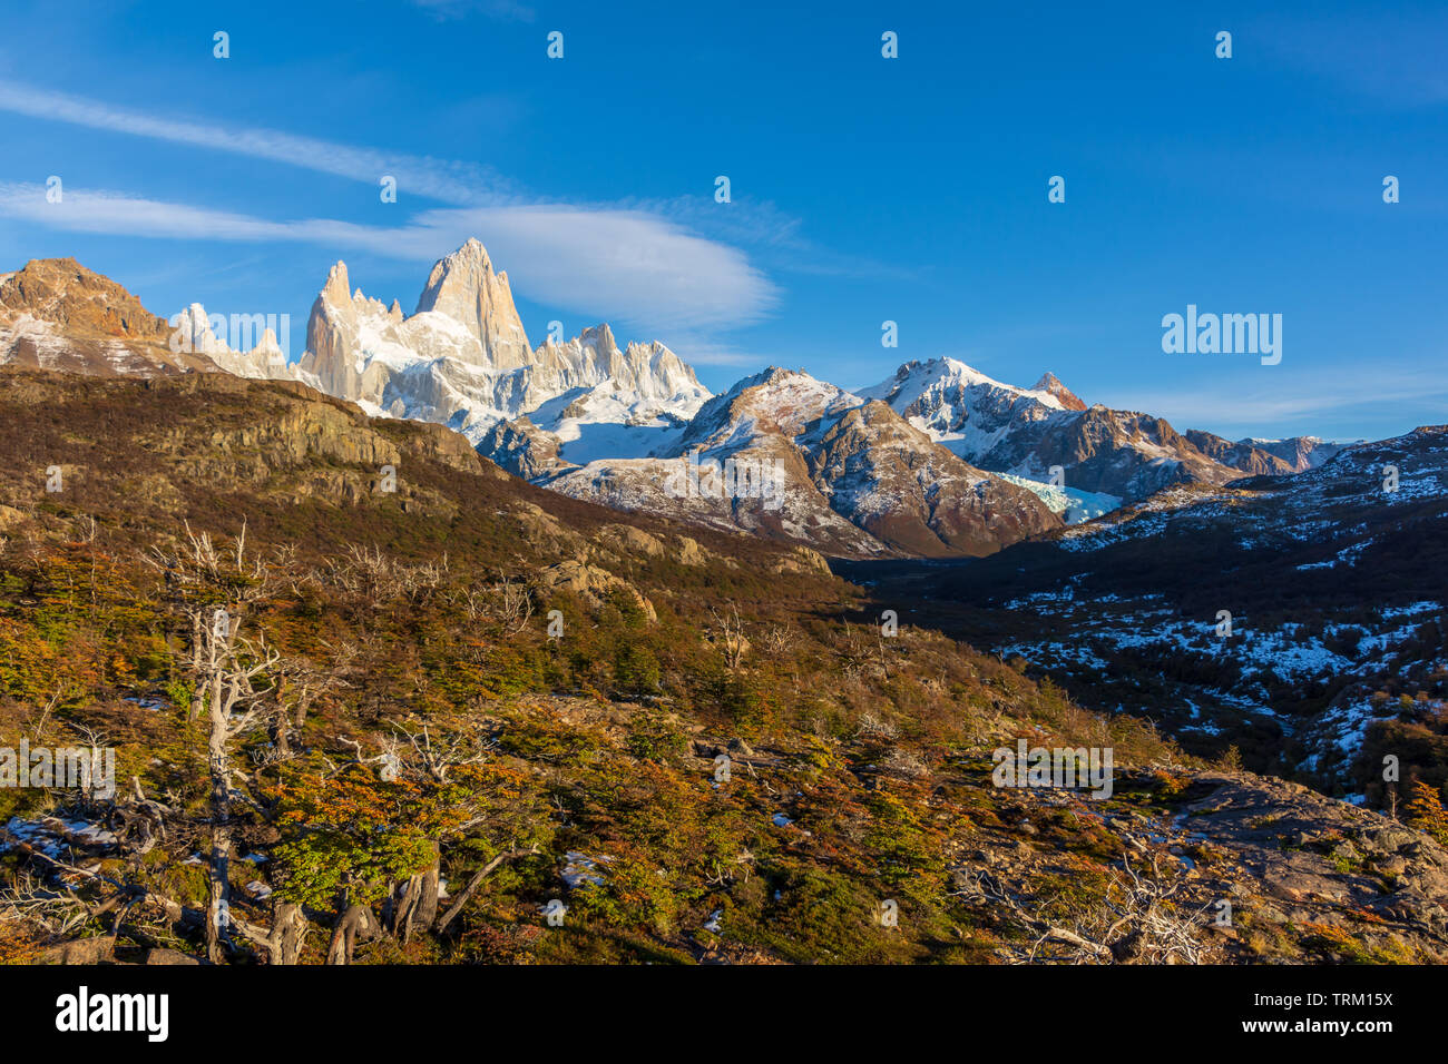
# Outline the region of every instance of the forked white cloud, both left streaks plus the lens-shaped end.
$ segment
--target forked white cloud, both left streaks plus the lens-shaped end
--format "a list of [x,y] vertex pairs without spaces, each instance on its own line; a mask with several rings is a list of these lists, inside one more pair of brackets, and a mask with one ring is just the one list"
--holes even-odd
[[[91,233],[194,240],[291,240],[390,258],[436,261],[481,239],[517,291],[546,305],[652,327],[731,327],[757,321],[779,290],[728,237],[701,235],[681,210],[643,203],[547,203],[488,166],[356,148],[272,129],[158,117],[0,80],[0,111],[229,152],[376,184],[449,204],[398,227],[333,219],[275,221],[123,193],[67,190],[45,203],[33,185],[0,185],[0,213]],[[746,211],[736,213],[743,221]],[[778,232],[767,223],[740,232]]]

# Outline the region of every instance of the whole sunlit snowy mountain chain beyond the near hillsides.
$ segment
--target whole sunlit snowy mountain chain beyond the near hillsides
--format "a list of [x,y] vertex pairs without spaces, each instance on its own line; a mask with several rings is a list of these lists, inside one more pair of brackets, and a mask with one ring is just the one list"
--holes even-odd
[[[841,556],[988,554],[1170,485],[1299,472],[1337,452],[1183,434],[1089,407],[1050,373],[1015,388],[953,359],[857,392],[770,368],[715,397],[663,343],[620,347],[608,324],[534,347],[478,240],[432,268],[410,316],[353,290],[337,262],[295,363],[271,329],[233,350],[210,324],[200,304],[168,323],[74,259],[0,274],[0,363],[297,381],[374,417],[445,424],[573,498]],[[750,489],[678,491],[734,470],[753,470]]]

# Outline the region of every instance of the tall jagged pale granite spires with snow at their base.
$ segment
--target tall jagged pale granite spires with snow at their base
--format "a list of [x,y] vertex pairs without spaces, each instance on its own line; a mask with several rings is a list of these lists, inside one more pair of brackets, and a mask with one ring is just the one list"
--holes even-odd
[[[336,263],[313,304],[300,369],[371,414],[439,421],[487,442],[482,453],[534,476],[585,430],[666,428],[708,398],[668,347],[620,350],[607,324],[530,349],[507,274],[494,271],[476,240],[433,266],[411,317],[395,301],[385,307],[350,291],[346,263]],[[494,436],[523,414],[531,428]]]

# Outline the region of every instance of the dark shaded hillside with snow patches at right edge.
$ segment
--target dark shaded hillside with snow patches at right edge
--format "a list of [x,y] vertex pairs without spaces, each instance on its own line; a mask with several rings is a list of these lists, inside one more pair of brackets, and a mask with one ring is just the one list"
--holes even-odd
[[1387,754],[1405,780],[1448,782],[1445,534],[1448,427],[1431,426],[1297,475],[1173,489],[980,563],[849,572],[1089,706],[1384,806]]

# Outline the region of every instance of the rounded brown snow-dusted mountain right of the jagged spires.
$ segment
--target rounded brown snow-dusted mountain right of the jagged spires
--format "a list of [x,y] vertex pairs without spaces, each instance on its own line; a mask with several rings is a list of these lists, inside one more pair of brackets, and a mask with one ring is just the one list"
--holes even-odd
[[985,554],[1060,525],[1032,492],[972,468],[883,402],[785,369],[707,402],[656,457],[591,462],[546,484],[849,556]]

